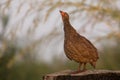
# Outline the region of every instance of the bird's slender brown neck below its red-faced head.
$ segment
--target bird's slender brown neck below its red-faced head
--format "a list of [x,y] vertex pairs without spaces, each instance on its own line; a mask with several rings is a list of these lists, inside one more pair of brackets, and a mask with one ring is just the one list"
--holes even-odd
[[76,30],[72,27],[69,20],[64,21],[64,33],[65,38],[70,37],[76,33]]

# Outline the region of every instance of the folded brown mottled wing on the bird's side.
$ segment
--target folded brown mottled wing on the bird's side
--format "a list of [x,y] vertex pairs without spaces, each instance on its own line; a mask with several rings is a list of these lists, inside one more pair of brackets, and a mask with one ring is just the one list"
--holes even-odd
[[97,49],[94,45],[85,37],[80,35],[77,36],[79,36],[79,38],[75,39],[74,47],[79,51],[78,55],[82,55],[84,58],[88,59],[98,59]]

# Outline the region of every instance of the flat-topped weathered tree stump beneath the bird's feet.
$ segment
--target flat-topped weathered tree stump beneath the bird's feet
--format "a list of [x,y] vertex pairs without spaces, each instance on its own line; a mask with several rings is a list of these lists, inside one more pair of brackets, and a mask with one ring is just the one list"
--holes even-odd
[[88,70],[77,74],[70,74],[70,72],[71,70],[65,70],[47,74],[43,80],[120,80],[120,71]]

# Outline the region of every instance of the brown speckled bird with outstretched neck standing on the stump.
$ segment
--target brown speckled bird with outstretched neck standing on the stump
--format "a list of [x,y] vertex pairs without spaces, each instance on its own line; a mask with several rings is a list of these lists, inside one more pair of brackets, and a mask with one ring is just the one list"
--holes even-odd
[[78,70],[75,72],[86,71],[87,63],[95,68],[99,59],[97,48],[73,28],[67,12],[61,10],[59,12],[64,26],[64,52],[70,60],[79,63]]

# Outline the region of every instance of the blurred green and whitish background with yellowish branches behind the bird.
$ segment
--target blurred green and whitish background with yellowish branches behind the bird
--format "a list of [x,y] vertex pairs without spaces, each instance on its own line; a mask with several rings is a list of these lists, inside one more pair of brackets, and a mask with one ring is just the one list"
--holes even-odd
[[[120,0],[1,0],[0,80],[41,80],[72,69],[59,10],[97,47],[96,69],[120,69]],[[88,69],[93,69],[89,64]]]

